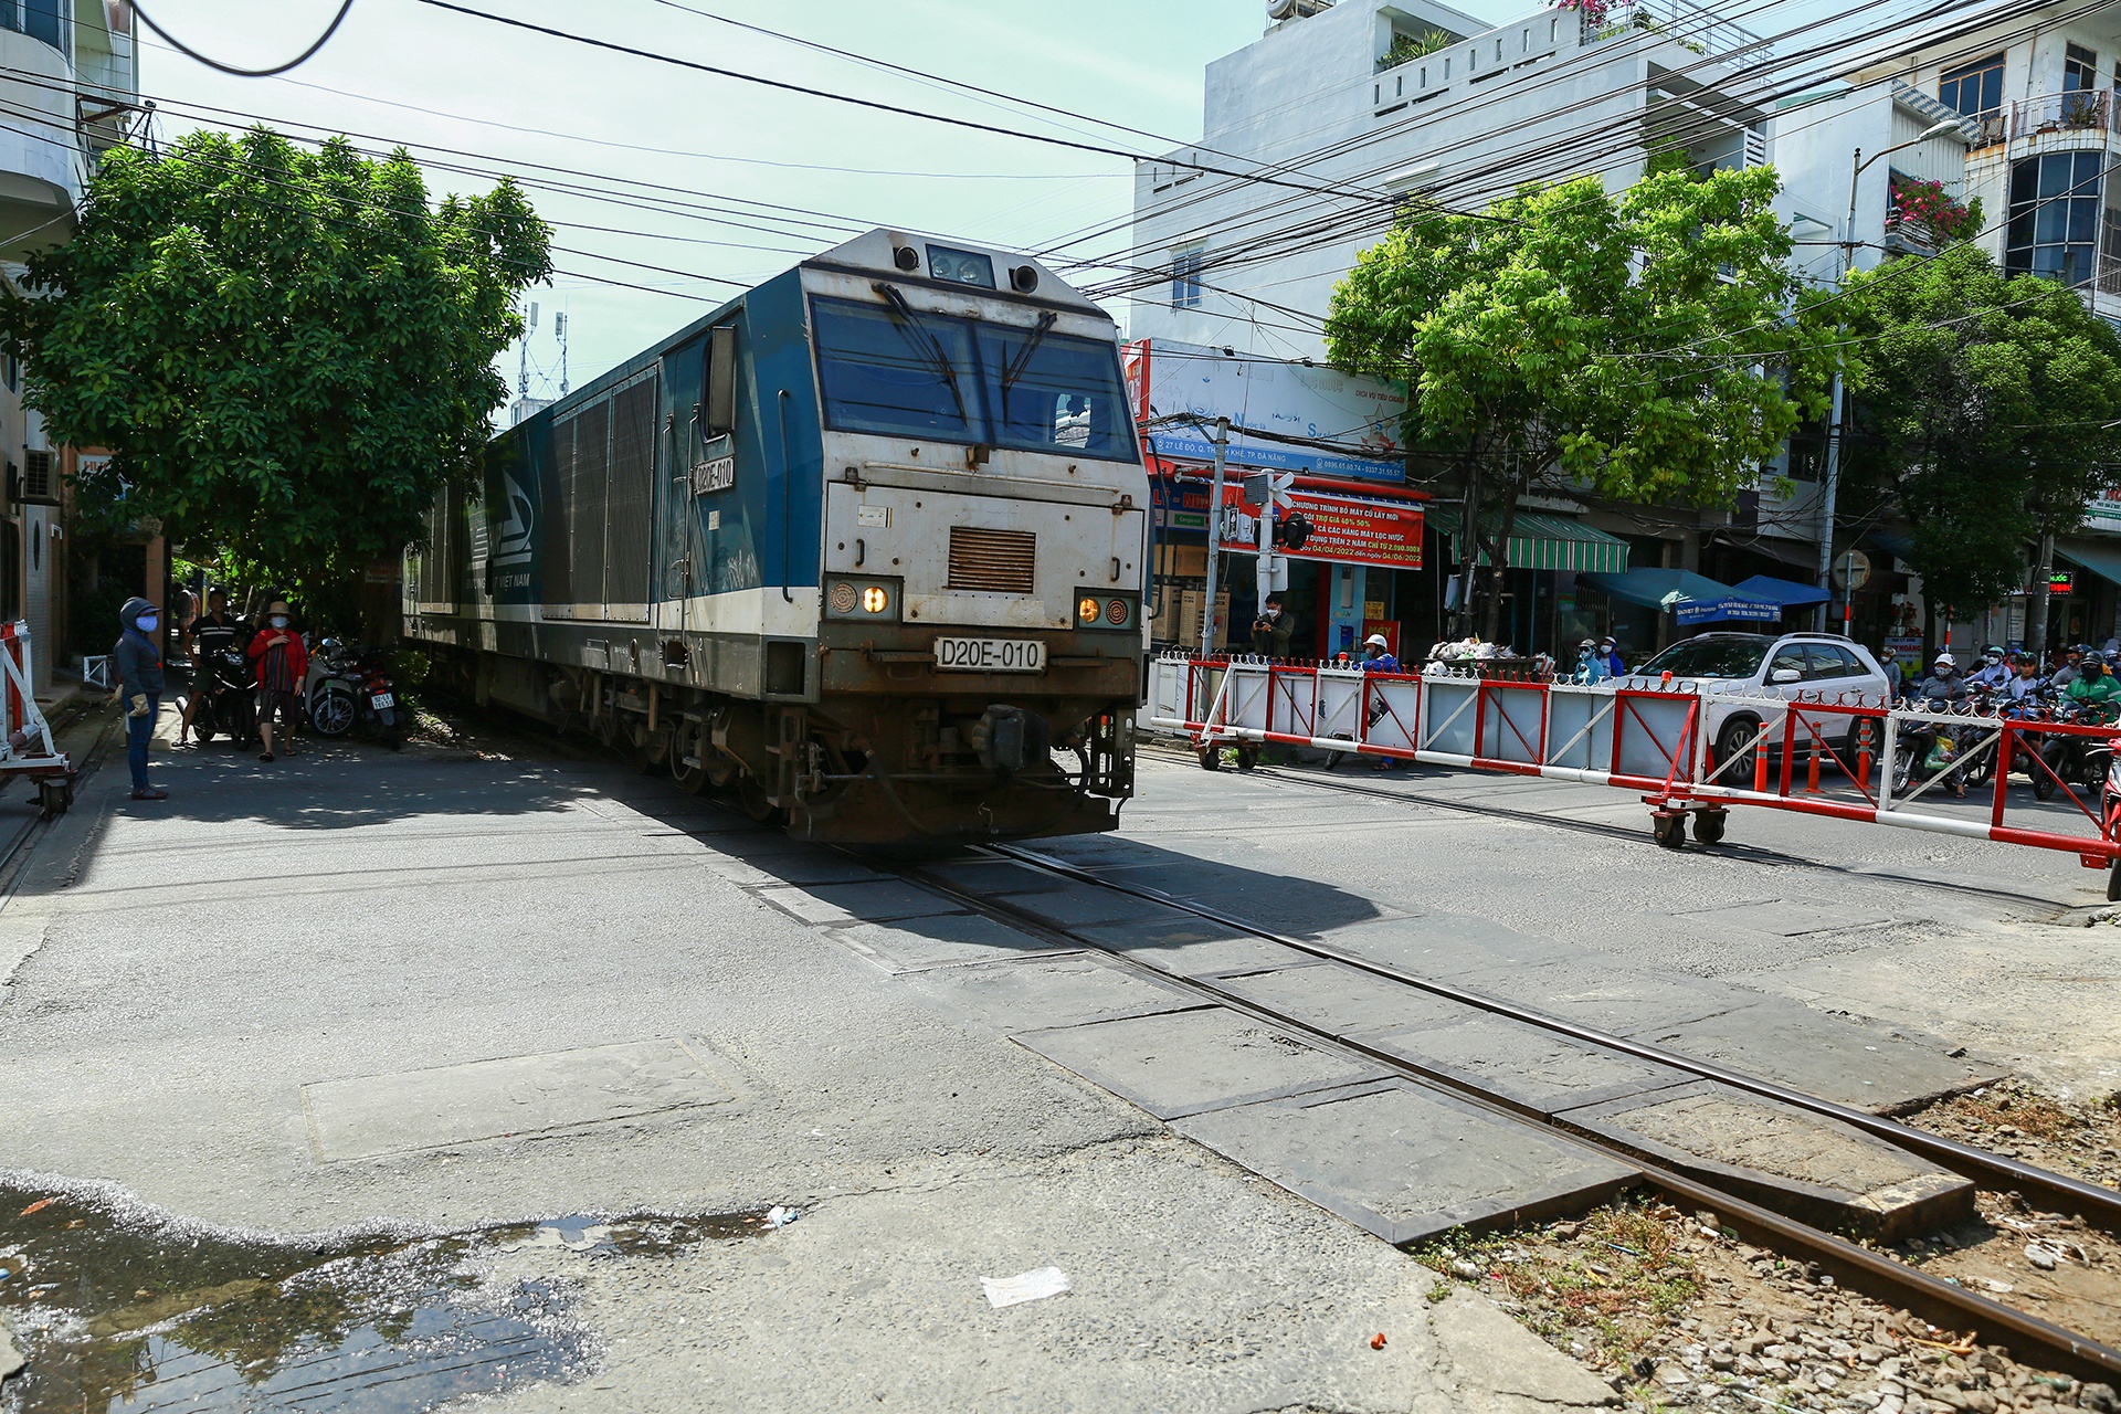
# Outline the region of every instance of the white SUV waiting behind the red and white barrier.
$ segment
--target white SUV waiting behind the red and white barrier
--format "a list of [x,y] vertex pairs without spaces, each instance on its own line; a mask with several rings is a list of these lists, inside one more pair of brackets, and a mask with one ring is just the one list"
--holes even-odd
[[[1877,666],[1871,651],[1841,634],[1699,634],[1682,638],[1635,672],[1618,678],[1618,687],[1659,687],[1665,674],[1671,685],[1688,685],[1707,693],[1763,693],[1790,702],[1841,702],[1847,706],[1875,706],[1879,714],[1888,706],[1886,670]],[[1835,750],[1847,755],[1850,733],[1856,717],[1830,717],[1822,736]],[[1752,753],[1746,744],[1760,729],[1760,712],[1743,702],[1710,702],[1701,731],[1710,740],[1710,757],[1722,765],[1741,757],[1724,770],[1724,776],[1748,776]],[[1873,727],[1871,740],[1881,740]],[[1767,742],[1769,753],[1780,750],[1780,738]]]

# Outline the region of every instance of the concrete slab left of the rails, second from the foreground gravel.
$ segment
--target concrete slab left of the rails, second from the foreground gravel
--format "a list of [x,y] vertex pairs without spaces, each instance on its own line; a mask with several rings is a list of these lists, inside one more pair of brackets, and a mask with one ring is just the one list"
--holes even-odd
[[1020,1045],[1158,1119],[1381,1079],[1381,1066],[1313,1047],[1226,1007],[1029,1030]]

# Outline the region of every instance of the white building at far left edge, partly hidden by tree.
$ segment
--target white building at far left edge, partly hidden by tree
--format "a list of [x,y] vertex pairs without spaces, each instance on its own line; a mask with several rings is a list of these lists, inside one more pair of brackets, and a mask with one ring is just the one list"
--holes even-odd
[[[136,140],[140,68],[125,0],[0,0],[0,280],[21,259],[74,233],[83,191],[104,151]],[[21,405],[21,373],[0,360],[0,619],[28,619],[38,687],[59,655],[68,589],[62,449]],[[140,547],[144,589],[161,547]],[[127,579],[132,577],[127,560]],[[117,625],[110,638],[117,636]],[[98,625],[95,632],[102,632]]]

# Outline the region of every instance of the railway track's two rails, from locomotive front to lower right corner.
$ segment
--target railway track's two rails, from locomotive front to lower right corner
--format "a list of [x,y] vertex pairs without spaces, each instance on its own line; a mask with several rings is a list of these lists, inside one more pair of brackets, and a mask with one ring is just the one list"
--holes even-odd
[[[1589,1026],[1576,1026],[1570,1022],[1559,1022],[1555,1018],[1540,1015],[1525,1007],[1485,996],[1478,992],[1468,992],[1463,988],[1436,982],[1408,973],[1404,969],[1374,962],[1370,958],[1355,956],[1351,952],[1332,948],[1330,943],[1317,943],[1309,939],[1287,937],[1273,929],[1258,926],[1232,914],[1215,907],[1207,907],[1188,899],[1177,899],[1154,888],[1141,888],[1133,884],[1122,884],[1116,880],[1101,878],[1054,856],[1041,854],[1035,848],[1024,846],[986,846],[980,850],[995,861],[1012,861],[1018,865],[1029,865],[1044,873],[1058,876],[1071,884],[1090,886],[1099,890],[1109,890],[1116,895],[1126,895],[1141,901],[1143,905],[1160,905],[1192,914],[1205,922],[1215,922],[1224,929],[1237,929],[1249,933],[1256,939],[1277,943],[1296,954],[1304,954],[1319,962],[1332,962],[1349,969],[1357,969],[1370,977],[1387,979],[1410,990],[1440,996],[1459,1005],[1476,1007],[1495,1018],[1504,1018],[1525,1026],[1538,1026],[1542,1030],[1555,1032],[1570,1041],[1608,1047],[1648,1060],[1673,1071],[1688,1073],[1693,1077],[1716,1081],[1760,1098],[1775,1100],[1826,1119],[1837,1119],[1866,1134],[1875,1134],[1894,1143],[1911,1153],[1917,1153],[1939,1168],[1956,1172],[1970,1179],[1983,1189],[2015,1189],[2026,1198],[2038,1198],[2043,1204],[2053,1206],[2059,1213],[2074,1213],[2085,1221],[2106,1230],[2121,1232],[2121,1194],[2102,1189],[2066,1174],[2055,1174],[2017,1160],[2009,1160],[1985,1149],[1947,1141],[1922,1130],[1896,1124],[1892,1119],[1837,1104],[1833,1100],[1822,1100],[1818,1096],[1803,1094],[1788,1085],[1775,1081],[1743,1075],[1718,1064],[1695,1060],[1690,1056],[1680,1056],[1654,1045],[1644,1045],[1627,1037],[1614,1037]],[[1883,1300],[1896,1308],[1905,1308],[1924,1321],[1930,1321],[1943,1329],[1977,1329],[1985,1338],[2009,1342],[2013,1355],[2032,1365],[2045,1365],[2049,1369],[2066,1372],[2076,1378],[2106,1380],[2113,1382],[2121,1378],[2121,1350],[2106,1346],[2089,1336],[2064,1329],[2040,1316],[2034,1316],[2015,1306],[2004,1306],[1985,1295],[1977,1295],[1956,1283],[1941,1280],[1917,1268],[1900,1263],[1879,1251],[1871,1251],[1862,1244],[1843,1240],[1833,1232],[1796,1221],[1784,1213],[1775,1213],[1767,1206],[1750,1202],[1724,1187],[1714,1183],[1703,1183],[1695,1177],[1673,1172],[1659,1164],[1648,1164],[1640,1153],[1627,1153],[1618,1147],[1603,1145],[1593,1136],[1584,1136],[1578,1130],[1563,1130],[1555,1119],[1538,1109],[1523,1102],[1510,1100],[1497,1090],[1472,1083],[1463,1077],[1432,1071],[1408,1062],[1404,1056],[1379,1049],[1364,1043],[1362,1037],[1349,1035],[1347,1030],[1332,1030],[1302,1018],[1277,1011],[1275,1007],[1262,1005],[1254,996],[1243,996],[1228,988],[1217,986],[1211,979],[1200,979],[1184,975],[1173,969],[1154,967],[1145,962],[1137,952],[1120,952],[1107,948],[1073,929],[1056,926],[1052,920],[1044,920],[1035,909],[1027,905],[1012,903],[1007,895],[991,897],[976,895],[965,888],[952,886],[948,880],[937,878],[929,867],[923,865],[901,865],[899,873],[908,880],[923,884],[925,888],[937,890],[963,907],[997,918],[1016,929],[1027,929],[1031,933],[1044,935],[1056,943],[1088,952],[1105,952],[1120,958],[1126,967],[1141,969],[1156,977],[1162,986],[1177,988],[1181,992],[1194,994],[1207,1003],[1215,1003],[1249,1015],[1258,1022],[1270,1024],[1279,1030],[1304,1037],[1328,1051],[1338,1051],[1343,1056],[1362,1058],[1368,1064],[1383,1066],[1406,1079],[1419,1081],[1423,1085],[1447,1088],[1459,1098],[1489,1109],[1500,1115],[1508,1115],[1519,1121],[1529,1121],[1550,1128],[1555,1134],[1565,1136],[1567,1143],[1582,1145],[1610,1160],[1625,1162],[1627,1166],[1642,1172],[1644,1181],[1661,1191],[1667,1200],[1688,1206],[1688,1208],[1714,1208],[1731,1227],[1735,1227],[1746,1238],[1782,1251],[1784,1255],[1801,1257],[1807,1263],[1818,1263],[1820,1270],[1835,1276],[1845,1287]]]

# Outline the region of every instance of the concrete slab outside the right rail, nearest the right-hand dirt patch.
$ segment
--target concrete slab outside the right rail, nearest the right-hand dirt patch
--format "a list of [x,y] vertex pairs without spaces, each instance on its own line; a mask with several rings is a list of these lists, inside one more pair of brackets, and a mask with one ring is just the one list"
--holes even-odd
[[1635,1039],[1879,1115],[2004,1075],[1784,996]]

